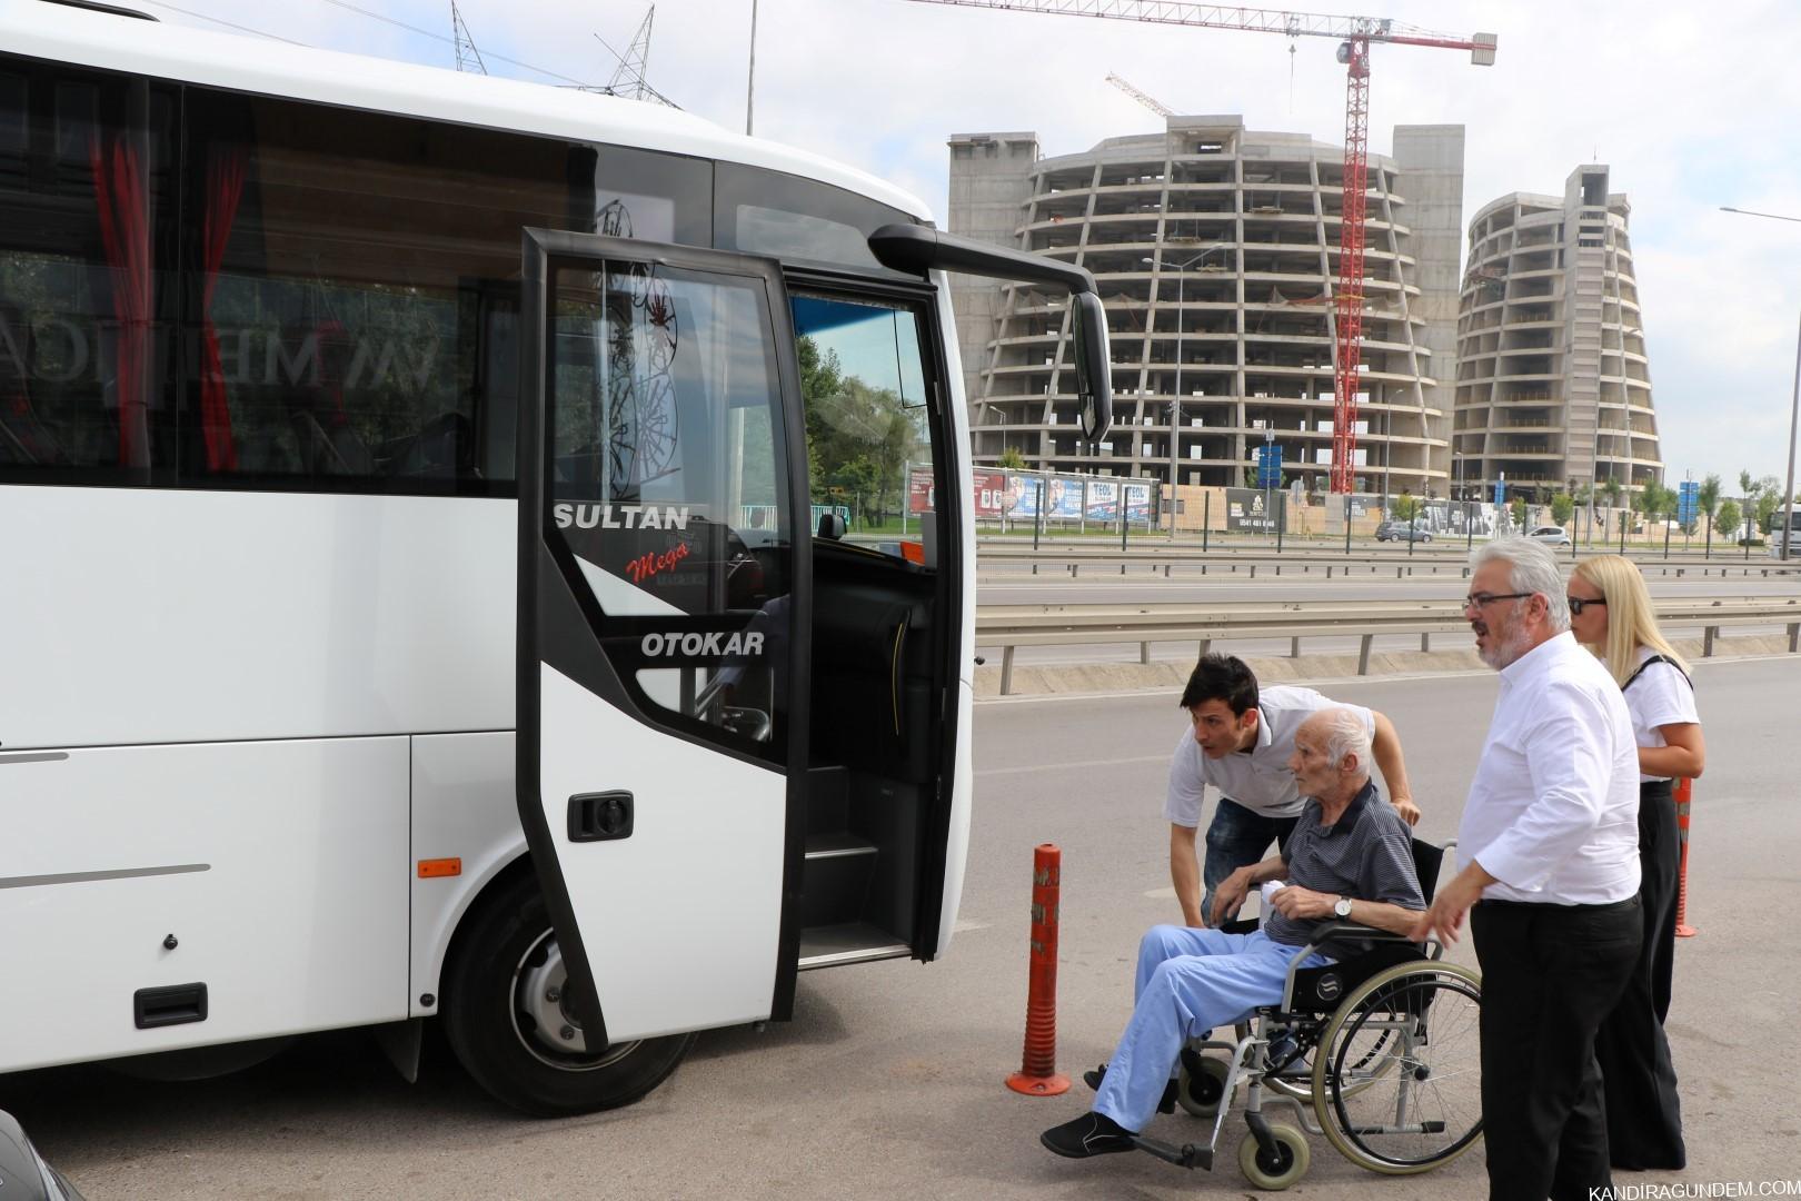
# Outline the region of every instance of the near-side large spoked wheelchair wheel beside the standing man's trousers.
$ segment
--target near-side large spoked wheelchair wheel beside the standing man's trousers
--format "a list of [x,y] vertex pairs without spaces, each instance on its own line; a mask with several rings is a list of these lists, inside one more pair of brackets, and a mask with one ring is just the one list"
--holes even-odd
[[1347,1160],[1407,1176],[1482,1133],[1482,980],[1457,963],[1398,963],[1326,1023],[1313,1107]]

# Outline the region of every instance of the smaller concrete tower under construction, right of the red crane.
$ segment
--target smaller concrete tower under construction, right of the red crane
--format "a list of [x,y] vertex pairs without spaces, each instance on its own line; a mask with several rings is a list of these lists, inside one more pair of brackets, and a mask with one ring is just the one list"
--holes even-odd
[[1513,193],[1470,221],[1452,448],[1471,495],[1662,479],[1630,214],[1590,164],[1561,196]]

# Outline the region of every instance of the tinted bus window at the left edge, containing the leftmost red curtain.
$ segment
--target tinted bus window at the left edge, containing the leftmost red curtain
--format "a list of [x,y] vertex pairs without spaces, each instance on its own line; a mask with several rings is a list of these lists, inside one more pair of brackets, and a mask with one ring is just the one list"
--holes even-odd
[[0,74],[0,479],[173,466],[173,94]]

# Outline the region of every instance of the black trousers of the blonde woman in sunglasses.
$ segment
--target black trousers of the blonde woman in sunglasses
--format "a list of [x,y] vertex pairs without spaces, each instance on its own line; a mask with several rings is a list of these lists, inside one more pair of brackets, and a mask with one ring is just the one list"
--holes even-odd
[[1644,947],[1619,1005],[1594,1035],[1606,1091],[1606,1147],[1614,1167],[1680,1169],[1682,1102],[1664,1016],[1677,945],[1677,807],[1670,781],[1639,785],[1639,868]]

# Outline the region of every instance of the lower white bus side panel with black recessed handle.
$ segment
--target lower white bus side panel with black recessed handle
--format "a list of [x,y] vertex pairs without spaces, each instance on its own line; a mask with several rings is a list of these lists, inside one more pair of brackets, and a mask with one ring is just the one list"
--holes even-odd
[[407,1016],[407,738],[0,753],[0,794],[5,1070]]

